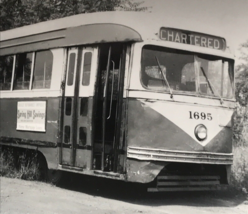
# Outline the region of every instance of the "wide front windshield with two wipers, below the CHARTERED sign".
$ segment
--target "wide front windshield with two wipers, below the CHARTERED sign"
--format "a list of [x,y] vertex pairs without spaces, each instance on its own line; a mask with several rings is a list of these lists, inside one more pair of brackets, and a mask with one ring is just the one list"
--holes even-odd
[[146,45],[141,66],[141,81],[150,90],[233,98],[231,60]]

